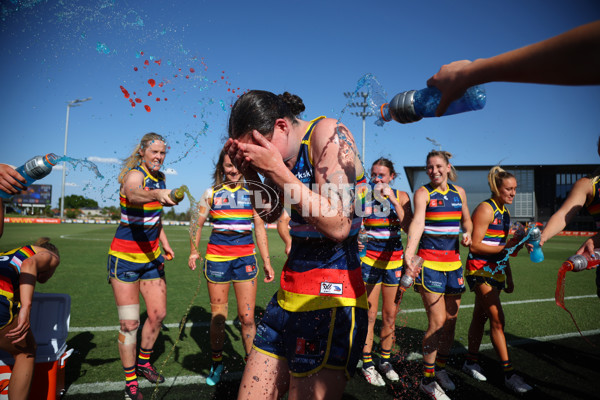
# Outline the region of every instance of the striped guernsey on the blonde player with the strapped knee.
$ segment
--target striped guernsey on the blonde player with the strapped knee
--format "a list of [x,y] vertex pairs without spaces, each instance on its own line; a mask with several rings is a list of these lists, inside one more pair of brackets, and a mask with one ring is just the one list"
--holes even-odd
[[[134,170],[144,174],[144,190],[165,189],[165,177],[159,173],[152,176],[141,165]],[[160,256],[159,235],[162,229],[162,205],[158,201],[132,204],[119,193],[121,222],[110,245],[108,254],[136,263],[148,263]]]

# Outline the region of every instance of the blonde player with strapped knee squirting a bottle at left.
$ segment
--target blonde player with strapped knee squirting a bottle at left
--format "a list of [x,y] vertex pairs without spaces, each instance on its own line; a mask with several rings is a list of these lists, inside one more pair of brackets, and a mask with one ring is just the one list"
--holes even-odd
[[[163,206],[176,203],[169,197],[160,168],[165,160],[165,139],[156,133],[145,134],[119,174],[121,222],[108,252],[108,280],[112,286],[119,315],[119,355],[125,372],[125,396],[142,399],[137,375],[152,383],[164,382],[150,356],[162,321],[167,314],[167,284],[162,245],[167,259],[175,256],[162,226]],[[136,359],[137,330],[140,324],[140,294],[148,318],[142,328]]]

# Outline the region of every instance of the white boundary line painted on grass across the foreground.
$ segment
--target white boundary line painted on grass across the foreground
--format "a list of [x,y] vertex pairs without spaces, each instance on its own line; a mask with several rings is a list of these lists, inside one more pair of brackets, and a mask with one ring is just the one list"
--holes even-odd
[[[583,331],[581,332],[583,336],[592,336],[600,334],[600,329],[595,329],[591,331]],[[559,335],[548,335],[548,336],[537,336],[534,338],[522,338],[509,341],[507,344],[510,347],[522,346],[524,344],[534,343],[534,342],[549,342],[552,340],[560,340],[560,339],[568,339],[579,336],[579,332],[570,332],[563,333]],[[480,350],[490,350],[492,349],[492,344],[483,344],[480,347]],[[466,352],[465,349],[460,349],[458,351],[453,351],[453,354],[460,354]],[[416,361],[420,360],[422,357],[419,353],[410,353],[406,355],[406,360],[408,361]],[[242,371],[229,372],[223,375],[223,381],[236,381],[241,379]],[[206,383],[205,375],[188,375],[188,376],[177,376],[171,378],[165,378],[165,382],[160,385],[162,388],[168,388],[171,386],[180,386],[180,385],[204,385]],[[156,385],[151,384],[147,381],[140,381],[140,387],[149,388],[155,387]],[[96,383],[80,383],[69,386],[67,391],[68,395],[75,394],[91,394],[91,393],[104,393],[104,392],[115,392],[124,389],[124,382],[96,382]]]

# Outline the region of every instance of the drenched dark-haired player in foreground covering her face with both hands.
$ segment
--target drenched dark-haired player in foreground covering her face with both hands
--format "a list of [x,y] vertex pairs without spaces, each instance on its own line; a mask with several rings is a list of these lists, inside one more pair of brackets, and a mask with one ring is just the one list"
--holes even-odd
[[[231,109],[225,149],[261,196],[267,222],[290,212],[280,289],[257,326],[239,399],[339,399],[367,329],[354,193],[364,172],[335,119],[298,118],[300,97],[250,91]],[[258,184],[265,177],[264,184]],[[284,204],[285,203],[285,204]]]

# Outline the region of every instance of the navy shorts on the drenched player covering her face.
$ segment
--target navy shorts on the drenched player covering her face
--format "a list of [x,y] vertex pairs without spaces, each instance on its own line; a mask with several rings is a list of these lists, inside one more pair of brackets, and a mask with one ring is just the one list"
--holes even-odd
[[254,349],[287,360],[296,377],[323,367],[345,370],[351,378],[367,336],[367,310],[335,307],[291,312],[279,306],[277,294],[256,327]]

